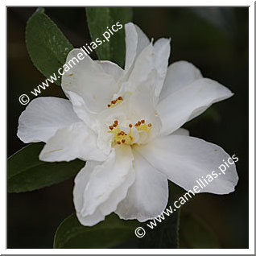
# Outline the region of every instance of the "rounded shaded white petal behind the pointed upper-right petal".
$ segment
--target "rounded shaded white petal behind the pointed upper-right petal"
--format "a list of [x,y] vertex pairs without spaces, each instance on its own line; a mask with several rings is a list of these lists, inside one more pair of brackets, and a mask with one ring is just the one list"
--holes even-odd
[[160,101],[171,93],[192,84],[202,77],[201,72],[188,61],[180,60],[169,66],[163,89],[160,94]]

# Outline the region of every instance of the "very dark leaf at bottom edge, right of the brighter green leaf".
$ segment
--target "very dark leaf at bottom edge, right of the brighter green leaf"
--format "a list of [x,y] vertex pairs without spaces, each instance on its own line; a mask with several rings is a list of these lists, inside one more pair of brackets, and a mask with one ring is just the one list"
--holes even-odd
[[[147,221],[143,228],[146,230],[144,237],[139,240],[139,248],[171,249],[179,245],[180,211],[173,212],[170,216],[161,215],[164,220]],[[160,219],[160,218],[159,218]],[[157,225],[151,225],[155,222]],[[148,225],[154,227],[151,229]]]

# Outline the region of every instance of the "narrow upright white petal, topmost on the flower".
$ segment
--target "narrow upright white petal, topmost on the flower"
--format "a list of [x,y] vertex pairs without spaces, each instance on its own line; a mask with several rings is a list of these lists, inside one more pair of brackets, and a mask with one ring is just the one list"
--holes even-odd
[[134,25],[134,23],[127,23],[126,30],[126,70],[128,70],[136,57],[147,47],[150,43],[147,35],[142,30]]

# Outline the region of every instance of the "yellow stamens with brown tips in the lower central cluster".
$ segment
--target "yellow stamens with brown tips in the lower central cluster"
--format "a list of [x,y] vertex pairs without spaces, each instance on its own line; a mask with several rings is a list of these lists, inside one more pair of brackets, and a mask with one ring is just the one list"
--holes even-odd
[[[146,124],[145,120],[138,121],[134,127],[138,131],[146,131],[149,133],[151,130],[151,123]],[[127,134],[125,131],[121,130],[118,126],[118,120],[115,120],[112,126],[109,126],[109,133],[114,134],[114,138],[112,140],[113,144],[126,144],[126,145],[132,145],[134,143],[134,136],[132,134],[132,128],[133,125],[129,124],[129,133]]]

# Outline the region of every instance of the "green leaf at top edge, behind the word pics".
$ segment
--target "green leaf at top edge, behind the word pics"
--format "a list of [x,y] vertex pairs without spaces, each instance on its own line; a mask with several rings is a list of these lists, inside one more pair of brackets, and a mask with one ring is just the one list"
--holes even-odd
[[[99,60],[110,60],[123,67],[126,55],[125,28],[124,24],[132,19],[130,7],[87,7],[87,21],[93,42],[99,38],[104,39],[103,33],[108,32],[107,27],[122,24],[122,29],[114,32],[109,37],[109,42],[102,43],[96,48]],[[117,29],[117,28],[116,28]],[[112,31],[112,30],[111,30]],[[110,34],[109,34],[110,35]]]

